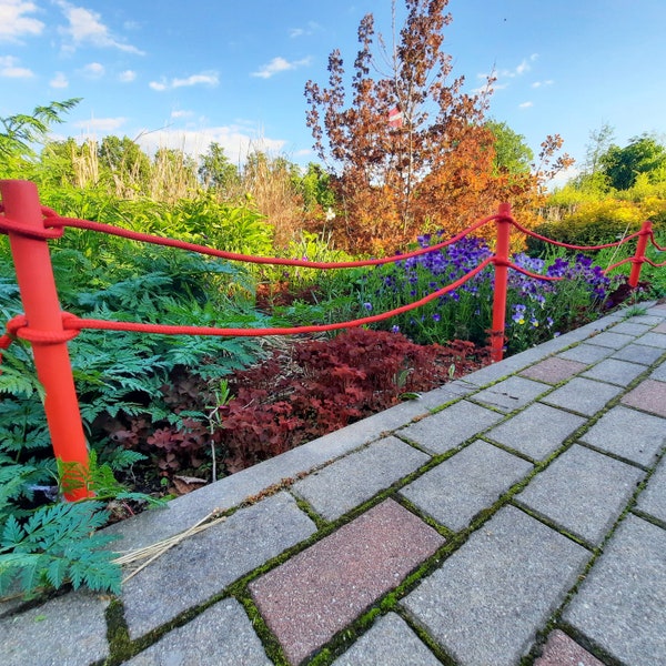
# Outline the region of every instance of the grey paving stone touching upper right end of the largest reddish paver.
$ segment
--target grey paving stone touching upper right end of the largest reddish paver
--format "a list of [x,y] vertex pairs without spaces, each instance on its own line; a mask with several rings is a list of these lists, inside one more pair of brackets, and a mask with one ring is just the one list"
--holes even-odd
[[527,461],[478,440],[403,487],[400,494],[457,532],[532,468]]

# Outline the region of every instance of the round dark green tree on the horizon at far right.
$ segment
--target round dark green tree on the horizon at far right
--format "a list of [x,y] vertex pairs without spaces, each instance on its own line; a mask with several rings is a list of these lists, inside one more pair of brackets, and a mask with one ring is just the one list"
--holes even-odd
[[601,157],[601,163],[608,183],[616,190],[628,190],[640,173],[652,182],[658,182],[666,173],[666,147],[652,134],[640,134],[630,139],[628,145],[610,145]]

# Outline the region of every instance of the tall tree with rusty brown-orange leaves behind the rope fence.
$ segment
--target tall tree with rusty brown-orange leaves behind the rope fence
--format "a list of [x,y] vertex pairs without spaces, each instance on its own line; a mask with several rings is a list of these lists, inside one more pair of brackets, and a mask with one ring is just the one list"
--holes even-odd
[[[436,229],[453,234],[502,201],[531,225],[544,180],[571,163],[567,155],[554,161],[562,147],[555,135],[542,144],[532,173],[493,169],[494,137],[484,115],[494,79],[468,94],[464,77],[452,77],[452,58],[442,49],[452,21],[447,4],[405,0],[391,49],[375,36],[373,14],[363,18],[351,103],[339,50],[329,57],[327,87],[305,85],[307,125],[340,202],[334,240],[351,252],[391,251]],[[395,22],[395,1],[393,16]],[[400,121],[390,122],[392,111]]]

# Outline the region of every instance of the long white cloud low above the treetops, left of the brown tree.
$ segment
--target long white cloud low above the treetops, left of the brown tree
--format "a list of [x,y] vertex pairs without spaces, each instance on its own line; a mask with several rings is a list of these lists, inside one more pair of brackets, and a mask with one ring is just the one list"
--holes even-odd
[[279,153],[285,145],[281,139],[268,139],[238,125],[225,125],[196,130],[144,130],[137,142],[148,153],[159,148],[182,150],[194,158],[204,154],[209,145],[219,143],[226,157],[241,164],[254,151]]

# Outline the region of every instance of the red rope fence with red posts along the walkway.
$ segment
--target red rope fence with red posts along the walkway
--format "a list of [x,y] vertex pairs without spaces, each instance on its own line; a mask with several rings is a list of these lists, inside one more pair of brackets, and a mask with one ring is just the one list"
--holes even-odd
[[[7,349],[14,337],[20,337],[31,343],[34,353],[34,364],[37,367],[38,379],[46,391],[44,411],[49,424],[49,432],[51,434],[53,452],[56,457],[64,463],[65,470],[70,470],[72,480],[74,480],[74,482],[77,478],[85,477],[85,472],[88,470],[88,447],[81,423],[67,343],[84,329],[134,331],[163,335],[222,336],[285,335],[350,329],[386,320],[402,312],[420,307],[421,305],[424,305],[434,299],[454,291],[467,280],[483,271],[487,265],[493,264],[495,271],[495,293],[493,301],[491,349],[493,361],[501,361],[503,357],[504,347],[508,269],[516,270],[536,280],[556,281],[563,279],[538,275],[526,271],[525,269],[517,266],[509,261],[509,235],[512,226],[527,235],[532,235],[547,243],[581,251],[618,246],[633,239],[637,239],[636,252],[633,256],[619,261],[606,269],[606,272],[608,272],[624,263],[630,262],[633,265],[629,276],[629,285],[633,287],[638,284],[640,268],[644,263],[649,263],[654,266],[666,265],[666,262],[655,264],[645,256],[648,241],[652,241],[652,243],[658,250],[666,250],[656,243],[650,222],[644,222],[640,231],[637,231],[636,233],[628,235],[615,243],[594,246],[569,245],[552,241],[551,239],[546,239],[545,236],[525,229],[512,218],[511,206],[506,203],[500,205],[496,214],[475,222],[460,234],[436,245],[421,248],[413,252],[384,259],[329,263],[306,260],[248,256],[232,252],[225,252],[222,250],[215,250],[212,248],[205,248],[202,245],[195,245],[193,243],[178,241],[174,239],[133,232],[118,226],[112,226],[110,224],[91,222],[89,220],[61,218],[54,211],[40,204],[37,186],[28,181],[0,181],[0,199],[2,201],[0,204],[0,213],[3,211],[3,214],[0,214],[0,233],[6,233],[9,236],[10,248],[16,266],[17,282],[24,309],[24,314],[16,316],[7,323],[7,333],[0,337],[0,350]],[[483,261],[475,269],[466,273],[460,280],[456,280],[455,282],[428,294],[427,296],[389,312],[365,316],[353,321],[326,325],[282,329],[215,329],[203,326],[144,324],[139,322],[113,322],[81,319],[73,314],[62,312],[56,289],[56,281],[53,278],[48,244],[50,239],[60,238],[64,232],[64,228],[69,226],[98,231],[140,242],[180,248],[183,250],[199,252],[201,254],[219,256],[233,261],[330,270],[379,265],[404,261],[405,259],[426,254],[428,252],[436,252],[460,241],[473,231],[491,222],[496,224],[497,230],[495,253],[491,258]],[[64,485],[67,487],[67,483]],[[89,492],[85,487],[81,487],[72,491],[65,496],[68,500],[79,500],[89,496]]]

